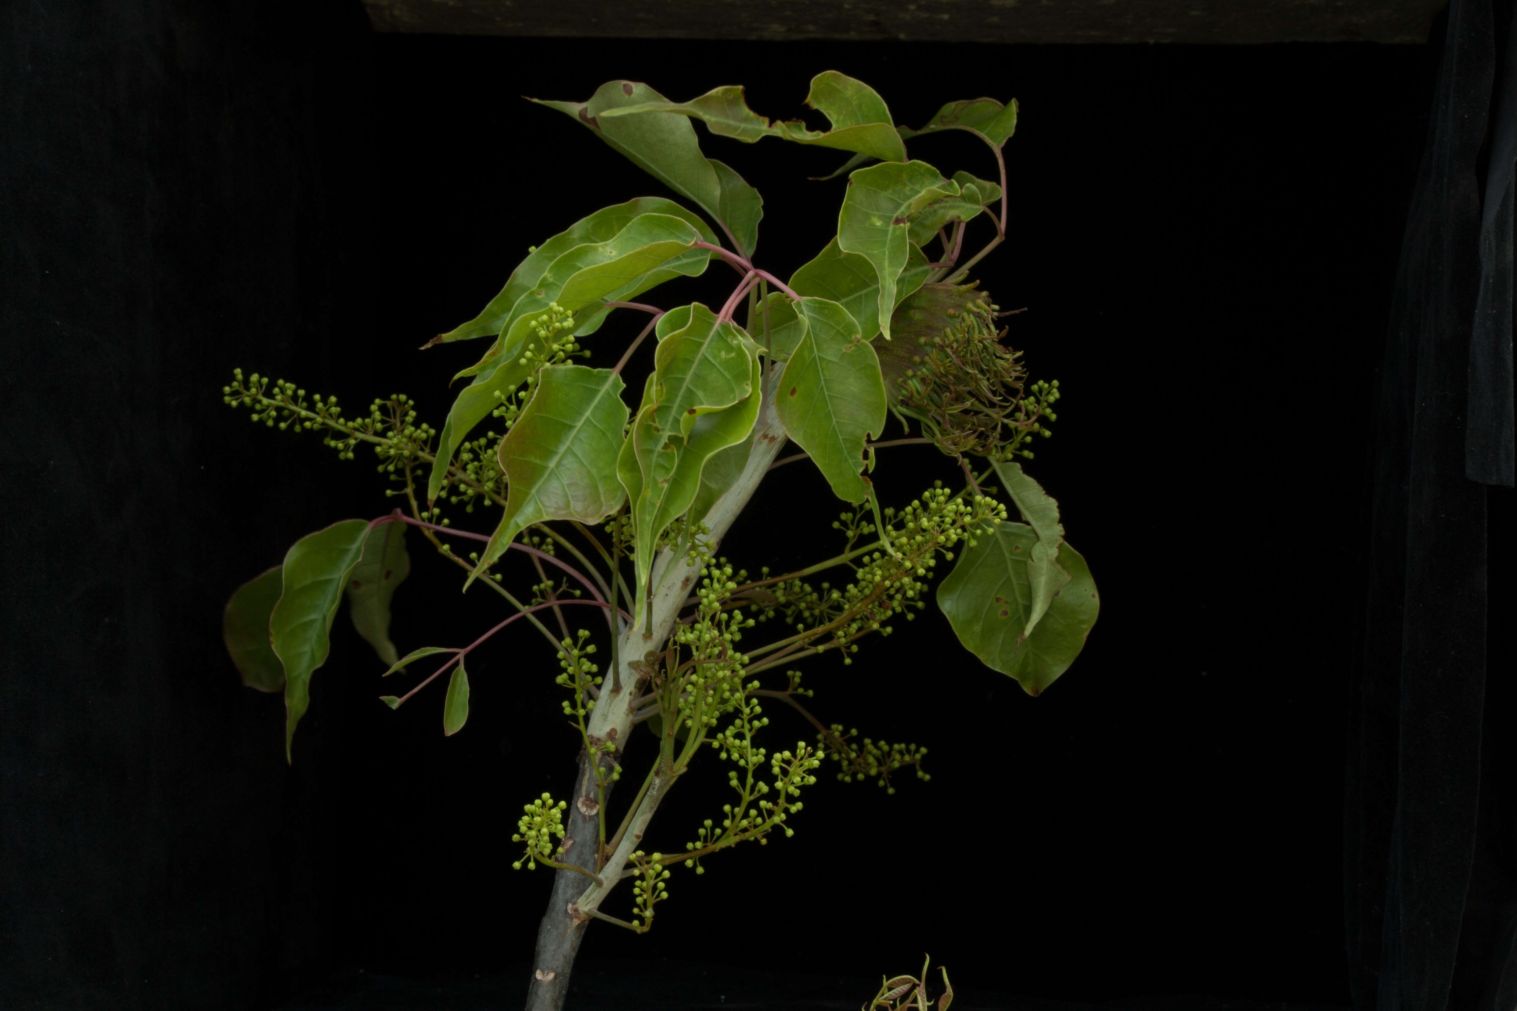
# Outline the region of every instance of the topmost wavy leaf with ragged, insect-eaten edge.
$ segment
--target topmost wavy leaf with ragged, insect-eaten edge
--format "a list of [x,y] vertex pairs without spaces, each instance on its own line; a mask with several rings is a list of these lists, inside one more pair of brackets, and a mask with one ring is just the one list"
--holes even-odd
[[865,158],[904,162],[906,144],[890,121],[890,109],[884,99],[862,80],[854,80],[836,70],[827,70],[812,77],[812,91],[806,105],[827,117],[831,129],[809,130],[801,121],[771,123],[748,108],[739,85],[713,88],[690,102],[674,103],[661,95],[655,100],[607,109],[601,121],[631,115],[677,112],[701,120],[721,136],[731,136],[752,144],[765,136],[778,136],[796,144],[815,144],[843,152],[857,152]]

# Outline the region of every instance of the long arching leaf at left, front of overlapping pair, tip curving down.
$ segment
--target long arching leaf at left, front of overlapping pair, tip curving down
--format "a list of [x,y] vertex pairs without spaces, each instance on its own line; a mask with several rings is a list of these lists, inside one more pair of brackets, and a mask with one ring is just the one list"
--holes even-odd
[[684,218],[643,214],[610,241],[576,246],[558,256],[537,286],[513,306],[495,347],[473,365],[478,370],[473,383],[460,391],[448,412],[426,485],[428,502],[441,491],[448,465],[469,432],[501,405],[501,396],[513,393],[540,367],[526,352],[542,350],[536,324],[549,306],[557,303],[573,314],[595,315],[607,302],[625,302],[671,277],[699,274],[710,252],[695,249],[696,241],[701,233]]

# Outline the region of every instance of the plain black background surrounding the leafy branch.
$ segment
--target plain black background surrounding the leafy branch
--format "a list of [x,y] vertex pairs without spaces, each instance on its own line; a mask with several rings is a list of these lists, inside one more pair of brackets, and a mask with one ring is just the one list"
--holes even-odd
[[[1065,391],[1029,470],[1103,617],[1039,699],[933,609],[853,667],[816,662],[813,711],[927,744],[933,781],[886,797],[824,778],[795,838],[677,872],[652,934],[596,925],[583,958],[872,975],[927,950],[968,988],[1347,1003],[1347,670],[1420,47],[369,38],[344,8],[9,17],[9,82],[27,82],[6,88],[27,142],[5,173],[0,399],[17,1006],[269,1006],[337,966],[528,958],[548,879],[511,872],[508,840],[575,756],[552,656],[526,632],[493,647],[444,740],[441,693],[381,706],[340,620],[287,770],[282,705],[238,687],[221,603],[302,534],[390,503],[364,455],[255,429],[220,385],[241,365],[349,411],[404,390],[440,424],[482,347],[416,347],[529,244],[661,192],[522,94],[742,82],[790,117],[825,68],[904,123],[1019,99],[1012,241],[980,276],[1027,306],[1009,340]],[[960,141],[913,156],[989,176]],[[842,182],[806,177],[840,156],[702,144],[765,194],[765,265],[784,276],[825,243]],[[651,297],[715,305],[728,283]],[[592,338],[595,361],[634,324]],[[951,476],[907,449],[875,480],[901,502]],[[837,508],[789,467],[724,552],[804,564],[831,553]],[[473,638],[493,602],[460,597],[419,538],[413,556],[397,644]],[[771,715],[774,744],[806,735]],[[678,849],[721,790],[711,768],[683,784],[652,844]]]

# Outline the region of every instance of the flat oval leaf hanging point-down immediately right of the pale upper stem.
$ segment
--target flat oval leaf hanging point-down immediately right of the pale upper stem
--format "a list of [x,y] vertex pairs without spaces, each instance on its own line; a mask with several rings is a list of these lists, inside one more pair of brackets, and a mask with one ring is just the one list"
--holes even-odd
[[802,299],[806,336],[784,365],[775,409],[786,434],[816,462],[833,494],[869,497],[865,443],[884,429],[880,359],[848,311],[825,299]]

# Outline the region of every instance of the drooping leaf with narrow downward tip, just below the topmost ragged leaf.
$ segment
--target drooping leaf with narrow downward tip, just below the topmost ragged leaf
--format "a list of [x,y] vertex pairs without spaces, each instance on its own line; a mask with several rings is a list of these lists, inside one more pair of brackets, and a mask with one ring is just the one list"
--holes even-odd
[[837,247],[874,267],[880,332],[886,340],[901,271],[910,259],[910,215],[939,197],[957,194],[959,183],[944,179],[927,162],[881,162],[848,177],[848,196],[837,215]]

